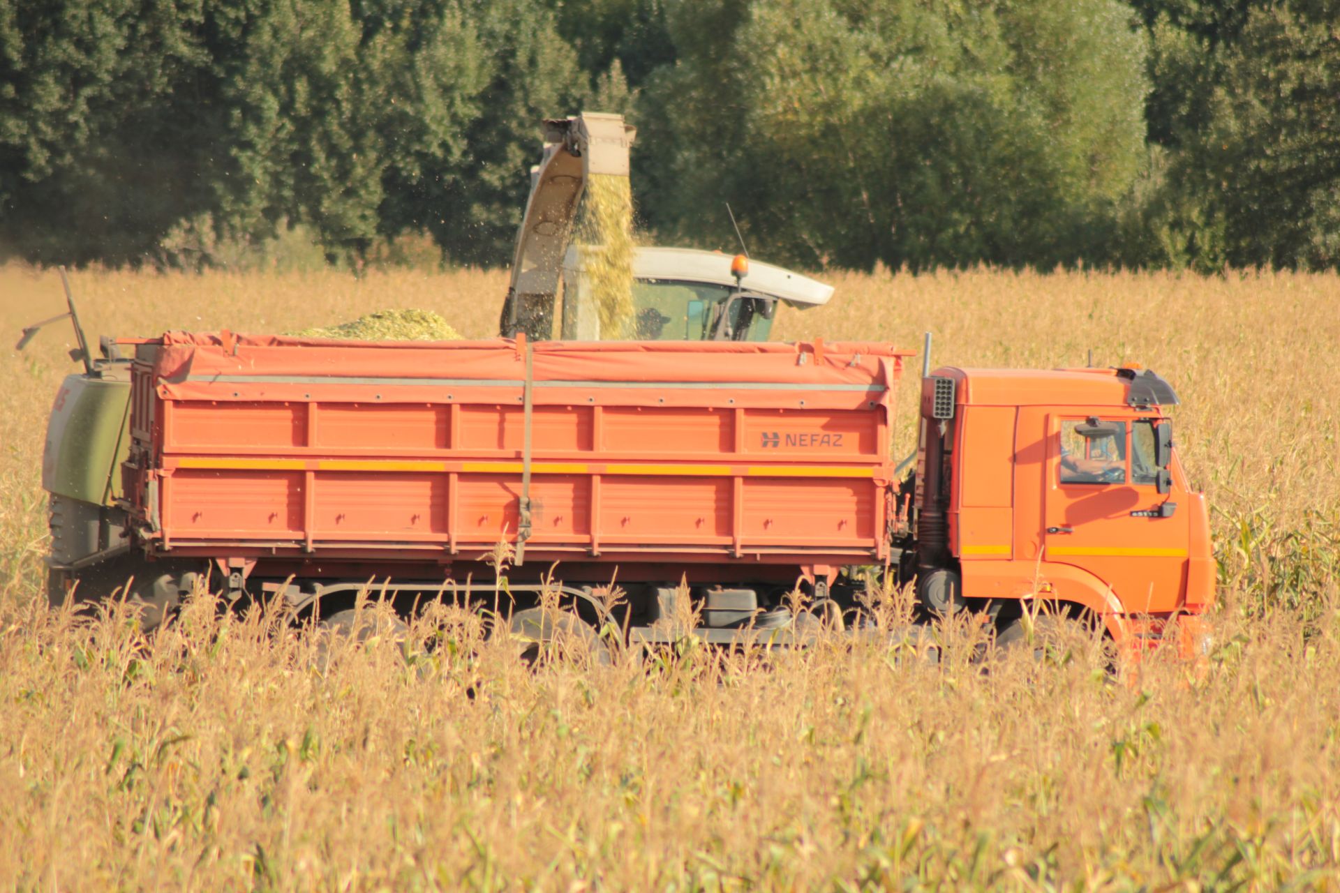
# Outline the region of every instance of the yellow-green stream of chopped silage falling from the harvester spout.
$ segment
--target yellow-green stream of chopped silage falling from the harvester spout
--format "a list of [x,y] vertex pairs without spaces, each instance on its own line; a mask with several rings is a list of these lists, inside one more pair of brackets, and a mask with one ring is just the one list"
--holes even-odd
[[632,190],[627,177],[591,174],[579,238],[584,301],[595,301],[602,340],[628,337],[632,329]]

